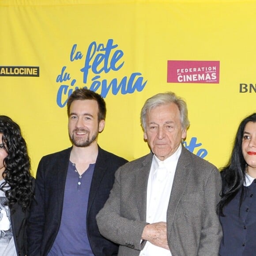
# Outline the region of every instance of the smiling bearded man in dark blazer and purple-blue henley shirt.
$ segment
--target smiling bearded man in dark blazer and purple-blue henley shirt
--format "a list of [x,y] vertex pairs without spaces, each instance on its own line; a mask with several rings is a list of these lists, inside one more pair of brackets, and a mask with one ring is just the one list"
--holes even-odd
[[75,90],[68,98],[72,147],[44,156],[38,166],[28,224],[28,255],[116,255],[118,245],[102,237],[95,216],[127,161],[98,146],[106,105],[97,93]]

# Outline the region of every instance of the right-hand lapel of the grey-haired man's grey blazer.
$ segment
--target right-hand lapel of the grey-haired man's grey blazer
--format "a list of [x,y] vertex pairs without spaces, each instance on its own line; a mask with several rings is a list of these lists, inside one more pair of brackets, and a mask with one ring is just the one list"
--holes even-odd
[[173,188],[171,191],[167,210],[168,226],[172,226],[173,224],[177,205],[180,202],[181,196],[183,195],[183,192],[188,184],[189,173],[192,171],[191,169],[189,169],[189,159],[190,156],[187,154],[187,149],[182,147],[181,156],[178,160],[174,175]]

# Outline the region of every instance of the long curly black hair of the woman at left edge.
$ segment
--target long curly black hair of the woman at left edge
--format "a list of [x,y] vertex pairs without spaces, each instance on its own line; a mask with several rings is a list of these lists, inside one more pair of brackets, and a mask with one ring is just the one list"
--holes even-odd
[[0,116],[0,133],[3,134],[0,143],[3,143],[4,150],[8,153],[8,156],[4,158],[4,183],[0,189],[5,192],[6,204],[11,211],[15,203],[26,211],[34,196],[26,142],[21,135],[19,125],[7,116]]

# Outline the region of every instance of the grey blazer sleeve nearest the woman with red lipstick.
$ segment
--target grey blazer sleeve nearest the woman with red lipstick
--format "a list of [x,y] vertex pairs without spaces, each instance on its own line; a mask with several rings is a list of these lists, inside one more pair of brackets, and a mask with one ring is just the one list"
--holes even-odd
[[217,204],[220,200],[221,177],[218,169],[211,170],[205,184],[205,211],[200,236],[198,256],[218,255],[222,228],[216,213]]

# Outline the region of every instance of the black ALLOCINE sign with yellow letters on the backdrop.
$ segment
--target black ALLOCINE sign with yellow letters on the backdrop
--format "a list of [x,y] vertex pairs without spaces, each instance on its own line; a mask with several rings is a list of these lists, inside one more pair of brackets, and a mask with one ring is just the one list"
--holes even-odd
[[39,67],[0,66],[0,76],[39,76]]

